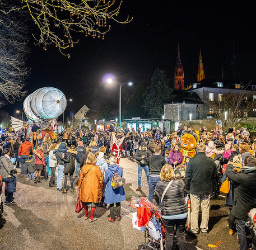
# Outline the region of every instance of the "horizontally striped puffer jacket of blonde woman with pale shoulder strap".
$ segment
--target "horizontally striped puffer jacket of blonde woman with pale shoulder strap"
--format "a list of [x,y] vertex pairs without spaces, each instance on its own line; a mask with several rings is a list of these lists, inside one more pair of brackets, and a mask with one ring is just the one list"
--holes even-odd
[[[156,183],[156,190],[161,196],[168,184],[168,181],[159,181]],[[174,180],[162,200],[161,214],[169,216],[187,213],[188,206],[184,199],[185,191],[184,181]]]

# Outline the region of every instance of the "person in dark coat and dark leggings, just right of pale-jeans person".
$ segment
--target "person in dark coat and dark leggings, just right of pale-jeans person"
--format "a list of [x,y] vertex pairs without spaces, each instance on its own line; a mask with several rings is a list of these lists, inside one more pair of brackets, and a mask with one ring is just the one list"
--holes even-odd
[[64,166],[64,190],[63,194],[67,194],[67,181],[68,181],[68,174],[69,174],[69,179],[70,179],[70,185],[71,185],[71,192],[74,192],[73,188],[73,173],[75,171],[75,161],[76,161],[76,155],[77,151],[75,149],[76,147],[74,145],[71,145],[70,149],[67,150],[67,158],[63,158],[65,162]]

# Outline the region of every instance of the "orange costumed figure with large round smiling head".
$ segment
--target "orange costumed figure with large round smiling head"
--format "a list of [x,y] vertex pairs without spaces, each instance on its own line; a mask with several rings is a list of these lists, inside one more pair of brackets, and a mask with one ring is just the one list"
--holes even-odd
[[196,150],[194,150],[194,148],[197,147],[197,141],[194,138],[193,135],[191,134],[184,134],[181,137],[180,140],[180,144],[181,144],[181,150],[180,152],[183,155],[183,163],[185,162],[186,157],[194,157],[196,155]]

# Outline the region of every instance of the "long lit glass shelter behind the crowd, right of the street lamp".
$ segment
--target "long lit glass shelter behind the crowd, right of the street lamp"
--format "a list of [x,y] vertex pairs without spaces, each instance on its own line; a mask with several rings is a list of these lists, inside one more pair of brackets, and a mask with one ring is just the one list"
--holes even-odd
[[148,129],[153,129],[153,127],[161,128],[163,130],[166,129],[166,133],[170,134],[174,131],[174,122],[169,119],[141,119],[141,118],[133,118],[133,119],[125,119],[125,128],[129,128],[130,131],[132,129],[137,130],[137,128],[141,128],[141,131],[147,131]]

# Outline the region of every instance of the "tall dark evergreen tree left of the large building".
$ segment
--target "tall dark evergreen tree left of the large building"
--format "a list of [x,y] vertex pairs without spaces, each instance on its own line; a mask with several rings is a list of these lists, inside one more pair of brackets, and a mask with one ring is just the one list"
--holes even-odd
[[143,107],[150,118],[160,118],[164,114],[164,103],[172,91],[169,82],[164,70],[155,70],[150,86],[147,87],[144,94]]

